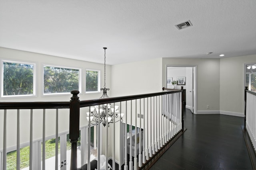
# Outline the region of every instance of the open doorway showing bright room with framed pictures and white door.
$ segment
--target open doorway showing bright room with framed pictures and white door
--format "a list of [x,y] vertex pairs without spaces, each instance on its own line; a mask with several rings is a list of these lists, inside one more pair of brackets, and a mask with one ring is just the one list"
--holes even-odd
[[[184,80],[182,84],[178,80]],[[180,89],[181,86],[186,90],[186,108],[196,114],[196,66],[188,65],[166,65],[166,87],[170,86],[170,80],[176,81],[175,89]]]

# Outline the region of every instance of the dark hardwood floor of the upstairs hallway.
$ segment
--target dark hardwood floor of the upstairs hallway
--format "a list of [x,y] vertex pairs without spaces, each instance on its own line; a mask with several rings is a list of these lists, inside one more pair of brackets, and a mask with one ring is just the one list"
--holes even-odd
[[183,135],[150,170],[252,169],[241,125],[243,117],[184,113]]

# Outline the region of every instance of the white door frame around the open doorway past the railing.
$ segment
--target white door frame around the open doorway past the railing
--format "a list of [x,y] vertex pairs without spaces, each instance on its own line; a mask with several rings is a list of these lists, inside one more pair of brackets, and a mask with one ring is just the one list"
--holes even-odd
[[193,78],[192,78],[192,85],[193,85],[193,110],[194,110],[194,114],[197,114],[197,65],[186,65],[186,64],[166,64],[166,68],[165,68],[165,86],[167,87],[167,67],[192,67],[192,74],[193,74]]

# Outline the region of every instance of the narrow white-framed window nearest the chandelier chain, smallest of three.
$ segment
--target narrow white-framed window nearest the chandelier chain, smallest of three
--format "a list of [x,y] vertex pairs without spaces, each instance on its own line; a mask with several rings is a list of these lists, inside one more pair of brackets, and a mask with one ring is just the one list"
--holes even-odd
[[86,92],[100,92],[100,71],[86,70]]

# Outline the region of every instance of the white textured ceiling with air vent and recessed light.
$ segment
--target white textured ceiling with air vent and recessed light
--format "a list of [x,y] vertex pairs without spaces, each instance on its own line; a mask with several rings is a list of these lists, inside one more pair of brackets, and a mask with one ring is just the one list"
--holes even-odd
[[107,64],[252,55],[256,0],[0,0],[0,47],[96,63],[108,47]]

